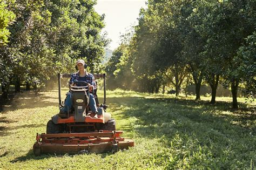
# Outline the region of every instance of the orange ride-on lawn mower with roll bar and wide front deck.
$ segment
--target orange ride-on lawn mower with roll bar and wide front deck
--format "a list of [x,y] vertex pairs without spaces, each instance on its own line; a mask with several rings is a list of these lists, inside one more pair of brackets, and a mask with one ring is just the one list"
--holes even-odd
[[[71,74],[58,74],[59,107],[63,107],[60,97],[60,78],[70,78]],[[134,146],[131,139],[120,137],[123,131],[116,131],[116,123],[106,113],[106,84],[105,74],[93,74],[104,79],[104,102],[99,105],[97,91],[94,92],[98,114],[91,114],[89,107],[90,90],[85,81],[78,81],[70,86],[72,108],[68,113],[53,115],[46,126],[46,134],[38,134],[33,145],[35,155],[44,154],[77,154],[102,153],[118,149],[128,149]],[[97,90],[97,89],[96,89]]]

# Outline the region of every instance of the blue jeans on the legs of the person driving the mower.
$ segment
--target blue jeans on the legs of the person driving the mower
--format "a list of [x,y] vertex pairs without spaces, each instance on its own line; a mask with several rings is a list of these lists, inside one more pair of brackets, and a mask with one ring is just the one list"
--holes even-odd
[[[89,106],[92,112],[98,112],[96,101],[92,93],[90,93]],[[71,96],[71,92],[68,92],[65,99],[64,107],[60,109],[62,109],[62,111],[68,112],[68,108],[70,110],[71,107],[72,107],[72,96]]]

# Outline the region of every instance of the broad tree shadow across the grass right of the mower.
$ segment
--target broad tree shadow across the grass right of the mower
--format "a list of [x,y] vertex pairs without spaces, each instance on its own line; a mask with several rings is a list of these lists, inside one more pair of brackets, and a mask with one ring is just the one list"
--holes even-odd
[[[223,168],[230,167],[232,159],[255,157],[251,153],[255,148],[255,107],[246,108],[240,103],[242,108],[233,110],[231,103],[225,101],[211,105],[207,101],[176,98],[113,97],[107,101],[113,111],[114,107],[122,110],[120,106],[123,106],[120,114],[130,120],[130,124],[127,122],[129,125],[121,126],[120,130],[130,131],[131,138],[161,139],[168,147],[172,147],[173,142],[181,142],[178,150],[204,146]],[[116,121],[118,123],[118,119]],[[180,141],[176,141],[177,136]],[[185,145],[187,141],[194,144]],[[231,160],[224,164],[221,158]]]

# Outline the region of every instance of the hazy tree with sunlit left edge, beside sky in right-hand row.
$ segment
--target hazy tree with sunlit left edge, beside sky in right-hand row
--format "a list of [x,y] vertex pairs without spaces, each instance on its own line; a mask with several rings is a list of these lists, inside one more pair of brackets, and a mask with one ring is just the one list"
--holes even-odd
[[173,2],[150,1],[148,9],[141,11],[132,44],[132,49],[136,50],[131,55],[134,58],[132,69],[137,76],[152,82],[157,78],[152,83],[156,87],[169,79],[178,96],[186,68],[180,57],[179,28],[173,22],[172,5]]

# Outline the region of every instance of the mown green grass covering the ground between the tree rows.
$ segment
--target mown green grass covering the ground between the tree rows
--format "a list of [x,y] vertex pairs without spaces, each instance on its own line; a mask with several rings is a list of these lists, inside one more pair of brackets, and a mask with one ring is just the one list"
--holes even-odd
[[18,94],[0,113],[0,169],[255,168],[255,102],[249,105],[239,98],[241,108],[235,111],[231,98],[217,98],[215,105],[207,97],[198,102],[193,98],[107,91],[107,112],[135,147],[116,154],[35,157],[36,133],[44,133],[58,112],[58,91]]

